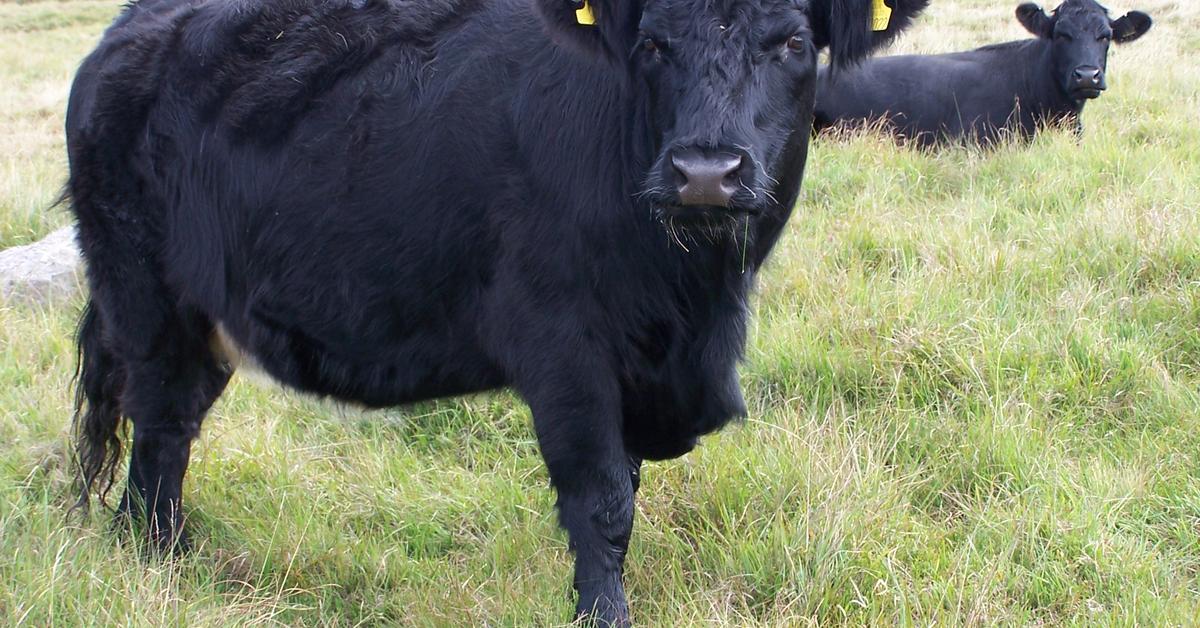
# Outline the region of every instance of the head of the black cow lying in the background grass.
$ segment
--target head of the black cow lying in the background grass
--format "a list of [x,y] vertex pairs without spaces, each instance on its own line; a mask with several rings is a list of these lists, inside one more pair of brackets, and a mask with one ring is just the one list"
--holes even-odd
[[1016,19],[1051,46],[1052,72],[1072,100],[1094,98],[1108,88],[1109,43],[1126,43],[1150,30],[1150,16],[1130,11],[1120,19],[1094,0],[1067,0],[1048,16],[1034,4],[1016,7]]

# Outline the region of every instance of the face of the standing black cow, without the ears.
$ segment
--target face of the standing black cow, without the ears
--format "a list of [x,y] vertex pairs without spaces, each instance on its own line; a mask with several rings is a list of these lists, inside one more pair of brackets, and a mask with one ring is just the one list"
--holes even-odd
[[805,128],[817,47],[796,4],[661,0],[647,6],[631,70],[659,154],[648,198],[673,219],[762,211],[792,133]]

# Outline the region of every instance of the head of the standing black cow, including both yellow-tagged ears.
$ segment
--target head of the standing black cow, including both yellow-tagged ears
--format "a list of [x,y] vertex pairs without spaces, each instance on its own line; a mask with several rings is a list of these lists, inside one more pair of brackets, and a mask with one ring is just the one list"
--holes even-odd
[[640,196],[686,221],[768,209],[811,126],[818,52],[852,64],[929,0],[888,0],[878,30],[878,0],[589,0],[594,24],[582,2],[539,1],[560,42],[625,71],[653,144]]

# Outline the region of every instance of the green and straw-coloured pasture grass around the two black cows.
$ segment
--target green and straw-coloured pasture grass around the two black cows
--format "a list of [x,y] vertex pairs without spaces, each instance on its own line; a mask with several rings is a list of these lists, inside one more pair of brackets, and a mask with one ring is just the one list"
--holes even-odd
[[[1014,6],[944,0],[899,47],[1021,36]],[[1200,7],[1138,8],[1156,26],[1081,144],[814,148],[755,299],[751,419],[644,472],[640,623],[1200,622]],[[0,2],[5,246],[66,223],[64,98],[114,12]],[[361,414],[236,377],[194,449],[193,556],[68,516],[78,307],[0,306],[0,623],[570,616],[508,394]]]

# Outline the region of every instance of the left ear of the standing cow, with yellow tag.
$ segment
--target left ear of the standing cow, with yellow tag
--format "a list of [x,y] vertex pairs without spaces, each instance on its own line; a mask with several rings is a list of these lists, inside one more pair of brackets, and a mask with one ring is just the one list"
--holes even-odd
[[546,31],[587,55],[624,59],[637,35],[642,0],[536,0]]

